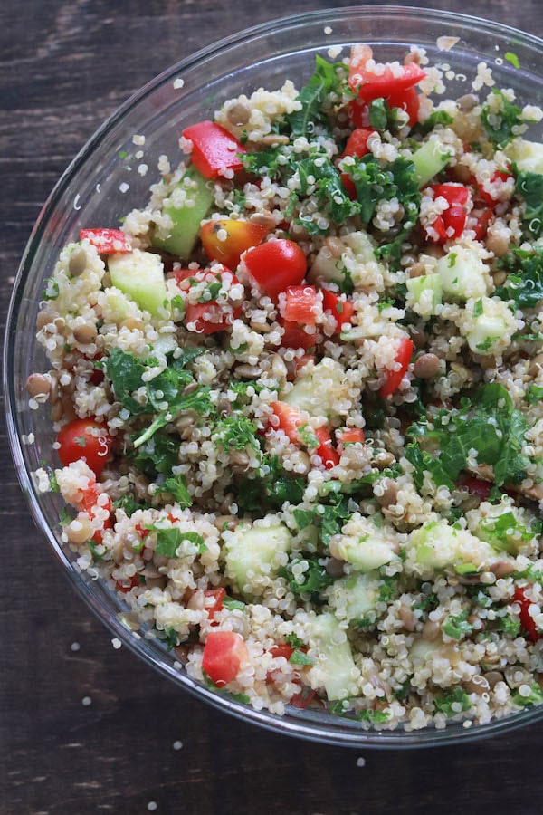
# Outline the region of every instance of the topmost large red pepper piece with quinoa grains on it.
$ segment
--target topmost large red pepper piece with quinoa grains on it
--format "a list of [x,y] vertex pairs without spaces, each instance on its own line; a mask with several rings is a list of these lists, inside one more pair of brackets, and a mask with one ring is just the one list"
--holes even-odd
[[355,45],[351,51],[348,85],[363,101],[390,97],[412,88],[426,76],[415,62],[406,65],[385,63],[384,70],[376,72],[370,64],[373,52],[369,45]]

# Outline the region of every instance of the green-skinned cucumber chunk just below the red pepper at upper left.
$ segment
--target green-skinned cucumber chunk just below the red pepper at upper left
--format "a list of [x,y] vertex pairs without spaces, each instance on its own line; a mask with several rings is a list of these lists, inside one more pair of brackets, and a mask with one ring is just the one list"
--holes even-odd
[[196,168],[189,167],[170,195],[170,203],[162,209],[162,214],[172,220],[169,234],[162,235],[157,228],[152,238],[153,246],[188,260],[200,234],[200,223],[207,215],[213,197],[213,189],[208,186],[207,179]]

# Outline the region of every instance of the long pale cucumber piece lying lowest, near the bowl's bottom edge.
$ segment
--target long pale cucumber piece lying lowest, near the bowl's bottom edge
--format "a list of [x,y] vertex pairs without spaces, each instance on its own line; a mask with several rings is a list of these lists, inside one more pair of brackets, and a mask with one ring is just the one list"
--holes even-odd
[[319,669],[329,701],[357,695],[357,666],[337,618],[330,613],[319,614],[311,623],[310,638],[320,652]]

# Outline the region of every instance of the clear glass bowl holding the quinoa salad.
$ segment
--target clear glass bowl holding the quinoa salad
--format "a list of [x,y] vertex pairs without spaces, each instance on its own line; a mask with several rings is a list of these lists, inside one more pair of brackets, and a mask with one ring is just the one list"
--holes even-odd
[[[440,50],[440,44],[443,48],[448,42],[442,37],[455,38],[451,50]],[[432,64],[446,63],[456,74],[448,82],[448,97],[471,90],[479,62],[492,68],[497,87],[516,91],[519,104],[538,101],[543,91],[543,42],[536,37],[462,14],[393,6],[294,15],[235,34],[178,62],[100,127],[43,206],[14,283],[8,316],[4,358],[7,427],[35,523],[72,585],[114,636],[163,676],[211,705],[278,733],[358,748],[453,743],[536,722],[543,717],[543,705],[469,728],[451,724],[443,731],[367,732],[356,722],[324,712],[288,709],[284,716],[277,716],[214,693],[186,676],[175,656],[157,641],[123,625],[119,598],[100,580],[90,580],[81,573],[71,551],[60,541],[61,499],[57,494],[40,494],[32,476],[41,461],[55,460],[44,413],[29,409],[24,383],[33,371],[47,369],[34,326],[44,281],[52,273],[62,246],[75,239],[81,227],[115,225],[132,206],[145,203],[149,184],[155,180],[152,168],[161,154],[178,154],[181,129],[212,118],[225,100],[242,92],[280,87],[287,78],[300,87],[312,72],[315,54],[326,58],[330,46],[339,45],[344,46],[345,55],[354,43],[375,46],[383,61],[398,58],[412,44],[423,46]],[[514,66],[516,60],[511,55],[516,55],[520,67]],[[129,163],[138,150],[135,135],[145,136],[142,160],[150,168],[145,177],[129,171],[130,166],[135,168]]]

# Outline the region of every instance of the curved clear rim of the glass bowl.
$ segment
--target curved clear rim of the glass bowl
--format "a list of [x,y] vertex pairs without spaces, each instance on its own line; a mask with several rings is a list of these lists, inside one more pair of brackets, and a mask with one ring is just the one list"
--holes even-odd
[[[91,611],[95,614],[100,622],[110,629],[119,640],[129,647],[129,649],[142,658],[148,665],[152,666],[162,676],[173,680],[176,685],[182,686],[188,693],[195,695],[197,698],[205,700],[210,705],[232,714],[243,722],[257,724],[262,728],[270,730],[275,733],[290,734],[302,739],[307,739],[313,742],[329,743],[338,746],[351,746],[360,748],[373,748],[373,749],[391,749],[391,748],[414,748],[414,747],[429,747],[443,744],[452,744],[473,741],[476,739],[488,738],[491,735],[503,733],[514,730],[520,726],[529,723],[538,722],[543,718],[543,705],[539,707],[529,708],[518,714],[513,714],[501,719],[494,719],[488,724],[472,725],[469,729],[462,728],[462,724],[452,724],[443,731],[438,731],[433,728],[425,728],[424,730],[405,732],[403,729],[398,728],[394,731],[365,731],[365,730],[351,730],[344,726],[340,718],[328,720],[326,724],[315,724],[303,718],[301,714],[276,716],[266,711],[254,710],[249,705],[234,702],[226,695],[219,695],[211,691],[205,686],[200,686],[195,681],[190,679],[185,674],[177,671],[171,665],[161,661],[155,654],[150,652],[142,652],[141,647],[138,646],[137,641],[129,634],[129,631],[119,622],[119,619],[112,614],[111,609],[105,607],[105,603],[91,594],[88,590],[86,583],[81,579],[80,575],[73,570],[71,561],[68,560],[62,548],[59,546],[56,538],[52,534],[52,530],[45,522],[43,513],[40,508],[39,497],[33,486],[32,479],[24,465],[24,456],[22,450],[21,434],[18,429],[17,420],[17,406],[16,406],[16,386],[14,381],[14,358],[11,349],[10,340],[14,337],[14,328],[24,297],[24,286],[30,276],[33,266],[33,256],[37,246],[43,238],[43,233],[46,226],[50,223],[51,218],[55,212],[55,207],[62,197],[62,191],[68,187],[71,180],[77,176],[79,169],[85,165],[94,155],[95,151],[100,148],[100,143],[105,139],[111,129],[116,127],[123,118],[127,116],[130,110],[135,108],[139,102],[148,98],[158,87],[164,85],[166,82],[171,82],[172,79],[181,75],[184,71],[188,70],[191,66],[197,65],[199,62],[209,60],[214,55],[222,54],[228,51],[229,48],[240,46],[245,42],[252,41],[253,39],[262,37],[265,34],[277,34],[286,32],[297,25],[304,24],[333,24],[334,21],[344,19],[347,17],[357,17],[360,20],[370,20],[372,17],[378,15],[380,18],[386,17],[392,20],[406,19],[418,20],[421,24],[430,23],[448,23],[457,24],[463,29],[469,29],[471,32],[480,31],[481,34],[499,35],[501,39],[509,37],[512,41],[519,43],[541,54],[543,58],[543,41],[538,37],[520,31],[519,29],[493,23],[483,20],[478,17],[472,17],[468,14],[458,14],[448,11],[440,11],[436,9],[424,9],[417,6],[397,6],[397,5],[371,5],[371,6],[345,6],[339,8],[329,8],[319,11],[310,11],[302,14],[291,14],[289,16],[281,17],[279,19],[271,20],[268,23],[255,25],[243,31],[232,34],[224,39],[221,39],[213,44],[200,49],[199,51],[186,57],[186,59],[176,62],[174,65],[167,68],[166,71],[161,72],[153,80],[145,84],[142,88],[136,91],[129,97],[122,105],[119,106],[111,116],[105,120],[99,129],[90,137],[87,143],[82,147],[80,152],[71,161],[71,164],[64,170],[62,177],[58,180],[57,184],[53,187],[50,196],[47,198],[43,208],[33,226],[32,233],[28,243],[24,249],[24,254],[18,273],[14,282],[14,289],[9,305],[6,330],[5,330],[5,343],[4,343],[4,366],[3,366],[3,385],[5,394],[5,417],[6,426],[8,431],[8,438],[11,447],[11,452],[14,458],[14,465],[17,471],[19,482],[23,492],[30,505],[33,514],[33,520],[36,523],[40,532],[47,538],[53,554],[57,560],[62,563],[64,571],[71,584],[81,595]],[[394,36],[391,34],[391,36]],[[332,724],[333,722],[333,724]]]

